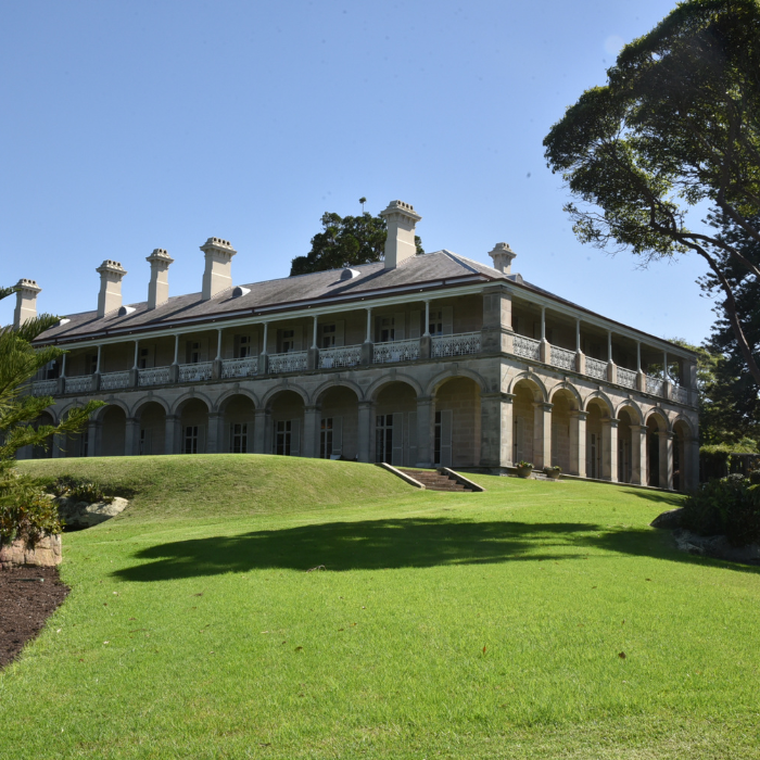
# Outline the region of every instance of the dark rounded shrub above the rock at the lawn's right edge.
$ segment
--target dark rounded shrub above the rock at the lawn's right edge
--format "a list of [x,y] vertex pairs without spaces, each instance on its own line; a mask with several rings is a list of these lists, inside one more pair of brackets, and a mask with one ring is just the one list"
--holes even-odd
[[684,502],[683,525],[734,546],[760,542],[760,485],[738,473],[702,483]]

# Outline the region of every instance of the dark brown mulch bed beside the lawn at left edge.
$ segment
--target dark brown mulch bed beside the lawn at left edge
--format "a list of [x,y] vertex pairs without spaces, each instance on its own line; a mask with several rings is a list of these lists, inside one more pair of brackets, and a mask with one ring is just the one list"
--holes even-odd
[[58,568],[0,570],[0,668],[39,633],[68,591]]

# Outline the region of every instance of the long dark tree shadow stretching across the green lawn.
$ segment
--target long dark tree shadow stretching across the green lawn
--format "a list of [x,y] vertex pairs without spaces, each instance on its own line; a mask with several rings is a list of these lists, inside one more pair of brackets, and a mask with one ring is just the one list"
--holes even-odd
[[[467,522],[409,518],[330,522],[236,536],[177,541],[135,555],[152,560],[114,574],[127,581],[244,572],[258,568],[378,570],[544,559],[569,560],[588,549],[709,562],[675,552],[651,529],[610,529],[573,522]],[[757,572],[748,568],[748,572]]]

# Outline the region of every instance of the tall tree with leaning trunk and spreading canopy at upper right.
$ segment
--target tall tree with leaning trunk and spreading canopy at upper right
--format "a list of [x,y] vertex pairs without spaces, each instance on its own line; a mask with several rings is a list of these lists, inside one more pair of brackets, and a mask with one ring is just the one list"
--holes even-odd
[[726,264],[760,266],[719,231],[687,225],[708,204],[760,242],[760,0],[691,0],[628,45],[608,84],[586,90],[544,140],[553,172],[583,206],[566,206],[582,242],[651,259],[694,252],[720,288],[747,370],[757,345]]

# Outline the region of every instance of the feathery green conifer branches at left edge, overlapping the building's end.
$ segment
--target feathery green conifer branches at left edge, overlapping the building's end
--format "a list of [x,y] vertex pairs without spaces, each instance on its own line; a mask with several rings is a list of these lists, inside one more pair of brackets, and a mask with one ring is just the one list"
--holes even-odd
[[[0,300],[14,292],[0,288]],[[35,349],[31,341],[59,321],[43,314],[20,328],[0,328],[0,542],[17,536],[34,543],[41,531],[58,533],[58,510],[28,474],[13,468],[24,446],[50,445],[55,434],[77,433],[90,414],[104,402],[92,401],[72,409],[59,425],[35,422],[53,400],[26,393],[29,380],[48,363],[63,355],[55,346]]]

